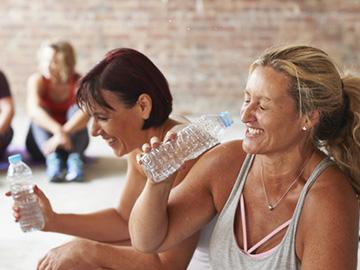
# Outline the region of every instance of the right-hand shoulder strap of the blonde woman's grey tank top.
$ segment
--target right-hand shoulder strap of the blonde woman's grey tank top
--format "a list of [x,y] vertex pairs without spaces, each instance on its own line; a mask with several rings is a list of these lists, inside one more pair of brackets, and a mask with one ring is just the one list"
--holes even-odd
[[294,229],[296,231],[298,221],[302,212],[302,208],[304,206],[305,197],[307,193],[309,192],[311,186],[315,183],[316,179],[319,177],[319,175],[329,166],[333,165],[334,162],[330,158],[324,158],[319,162],[319,164],[316,165],[315,169],[311,173],[310,177],[306,181],[303,190],[300,193],[299,200],[297,202],[294,214],[293,214],[293,220],[290,224],[290,226],[294,226]]

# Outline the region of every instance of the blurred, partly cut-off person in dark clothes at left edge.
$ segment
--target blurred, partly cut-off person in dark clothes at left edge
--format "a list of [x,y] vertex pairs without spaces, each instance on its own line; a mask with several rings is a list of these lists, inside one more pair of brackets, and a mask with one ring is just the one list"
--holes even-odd
[[14,113],[10,87],[4,73],[0,71],[0,158],[4,155],[14,135],[11,128]]

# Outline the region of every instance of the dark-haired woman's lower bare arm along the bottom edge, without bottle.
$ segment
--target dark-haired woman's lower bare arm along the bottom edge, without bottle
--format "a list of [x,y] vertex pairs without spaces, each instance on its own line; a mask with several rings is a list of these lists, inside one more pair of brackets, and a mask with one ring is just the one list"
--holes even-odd
[[46,254],[38,270],[56,265],[56,269],[93,270],[184,270],[196,248],[198,236],[183,241],[178,246],[159,254],[145,254],[130,246],[116,246],[84,239],[76,239]]

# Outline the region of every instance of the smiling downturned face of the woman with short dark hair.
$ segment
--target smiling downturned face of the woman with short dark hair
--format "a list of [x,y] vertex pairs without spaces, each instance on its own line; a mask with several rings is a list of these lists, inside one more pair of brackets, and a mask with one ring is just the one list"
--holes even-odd
[[101,92],[104,100],[114,110],[93,104],[91,134],[101,136],[117,156],[123,156],[144,143],[144,118],[137,103],[128,107],[112,92]]

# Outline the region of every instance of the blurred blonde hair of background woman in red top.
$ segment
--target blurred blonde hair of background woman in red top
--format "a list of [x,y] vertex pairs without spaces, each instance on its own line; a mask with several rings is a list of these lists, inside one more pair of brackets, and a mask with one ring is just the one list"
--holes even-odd
[[[52,49],[56,53],[59,64],[59,74],[63,82],[66,82],[75,73],[76,55],[74,48],[67,41],[45,42],[41,45],[38,54],[39,64],[41,64],[43,52]],[[40,70],[42,67],[40,66]]]

